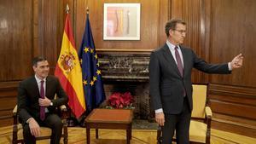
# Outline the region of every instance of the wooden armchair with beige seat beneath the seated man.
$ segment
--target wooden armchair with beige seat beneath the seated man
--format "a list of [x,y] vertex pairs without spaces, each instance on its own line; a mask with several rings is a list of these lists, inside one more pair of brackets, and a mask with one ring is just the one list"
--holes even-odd
[[[64,144],[67,144],[67,108],[65,105],[59,107],[61,110],[61,118],[63,123],[62,137],[64,138]],[[13,110],[14,127],[13,127],[13,144],[24,143],[22,125],[18,123],[17,106]],[[37,140],[49,139],[51,130],[46,127],[41,127],[41,135],[37,137]]]

